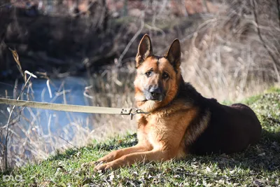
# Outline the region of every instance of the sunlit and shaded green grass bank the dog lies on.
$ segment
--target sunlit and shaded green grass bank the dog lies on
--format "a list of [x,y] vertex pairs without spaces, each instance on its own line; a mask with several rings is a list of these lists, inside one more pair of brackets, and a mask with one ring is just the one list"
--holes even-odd
[[[112,150],[137,144],[136,134],[92,142],[64,153],[0,174],[21,181],[0,186],[279,186],[280,185],[280,90],[243,101],[257,113],[263,127],[256,146],[232,155],[189,155],[184,160],[139,163],[107,172],[94,172],[88,162]],[[6,177],[6,178],[5,178]],[[10,178],[11,179],[11,178]]]

